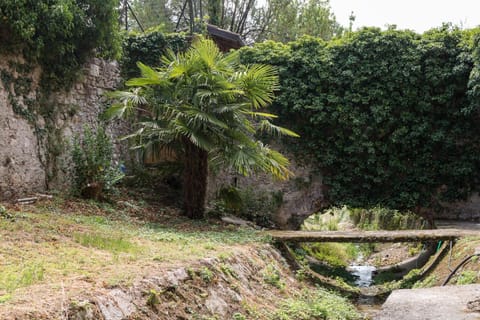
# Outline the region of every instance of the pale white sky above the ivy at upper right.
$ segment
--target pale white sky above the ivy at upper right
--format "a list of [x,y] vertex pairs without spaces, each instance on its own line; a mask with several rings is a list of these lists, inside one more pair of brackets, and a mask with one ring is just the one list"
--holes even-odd
[[387,24],[396,24],[398,29],[422,33],[442,22],[463,28],[480,25],[480,0],[330,0],[330,6],[345,27],[353,11],[353,30],[362,26],[385,29]]

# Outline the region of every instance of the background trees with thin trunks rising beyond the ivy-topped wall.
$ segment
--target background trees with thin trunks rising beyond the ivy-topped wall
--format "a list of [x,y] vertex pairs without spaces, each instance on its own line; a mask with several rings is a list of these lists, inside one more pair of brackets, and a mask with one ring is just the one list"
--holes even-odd
[[287,42],[304,34],[330,39],[343,32],[328,0],[134,0],[132,7],[146,27],[188,30],[204,21],[240,34],[247,43]]

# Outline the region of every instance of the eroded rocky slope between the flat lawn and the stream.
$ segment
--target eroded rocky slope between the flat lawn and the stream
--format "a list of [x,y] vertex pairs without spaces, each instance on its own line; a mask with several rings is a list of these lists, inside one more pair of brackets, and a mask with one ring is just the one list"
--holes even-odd
[[270,245],[250,245],[159,269],[129,287],[53,303],[51,310],[0,312],[0,319],[297,319],[299,308],[312,319],[361,318],[344,298],[299,281]]

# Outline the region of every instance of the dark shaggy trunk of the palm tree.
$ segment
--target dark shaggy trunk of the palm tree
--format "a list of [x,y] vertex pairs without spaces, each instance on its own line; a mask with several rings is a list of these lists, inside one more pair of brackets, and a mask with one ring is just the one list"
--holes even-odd
[[208,153],[184,139],[183,201],[185,215],[191,219],[205,217]]

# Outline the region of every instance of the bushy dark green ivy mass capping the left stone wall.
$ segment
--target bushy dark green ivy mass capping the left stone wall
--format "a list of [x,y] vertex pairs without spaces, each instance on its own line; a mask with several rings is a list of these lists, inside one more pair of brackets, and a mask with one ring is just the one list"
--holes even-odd
[[42,87],[65,88],[87,58],[118,58],[118,0],[2,0],[0,50],[42,67]]

